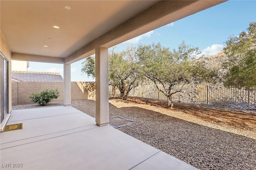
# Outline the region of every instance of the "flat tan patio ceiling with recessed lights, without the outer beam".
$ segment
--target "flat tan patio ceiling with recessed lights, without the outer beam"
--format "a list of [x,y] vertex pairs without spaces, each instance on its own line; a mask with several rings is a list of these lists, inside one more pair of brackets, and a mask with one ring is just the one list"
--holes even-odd
[[12,52],[66,57],[154,3],[1,0],[1,30]]

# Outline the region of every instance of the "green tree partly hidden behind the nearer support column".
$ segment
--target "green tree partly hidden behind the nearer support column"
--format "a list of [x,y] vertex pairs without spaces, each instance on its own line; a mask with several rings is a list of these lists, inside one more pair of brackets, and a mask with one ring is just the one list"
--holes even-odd
[[[81,71],[95,77],[95,58],[87,57],[82,63]],[[136,55],[136,48],[128,47],[126,51],[110,51],[108,58],[109,85],[119,89],[120,97],[126,99],[129,92],[138,86],[142,77]]]

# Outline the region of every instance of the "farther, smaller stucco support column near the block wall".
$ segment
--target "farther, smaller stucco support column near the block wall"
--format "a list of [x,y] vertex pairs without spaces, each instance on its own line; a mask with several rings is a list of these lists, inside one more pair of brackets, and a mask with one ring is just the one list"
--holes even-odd
[[71,69],[70,64],[64,64],[64,106],[71,106]]

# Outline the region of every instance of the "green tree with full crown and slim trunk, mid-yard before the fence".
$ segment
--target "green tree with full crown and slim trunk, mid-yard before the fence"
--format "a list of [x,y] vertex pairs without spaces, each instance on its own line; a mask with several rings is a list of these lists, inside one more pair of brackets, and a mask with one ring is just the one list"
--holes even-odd
[[190,47],[184,42],[173,51],[162,47],[160,43],[138,47],[143,74],[167,97],[168,108],[173,107],[172,95],[181,92],[186,83],[213,81],[216,77],[214,71],[192,62],[199,54],[198,48]]

